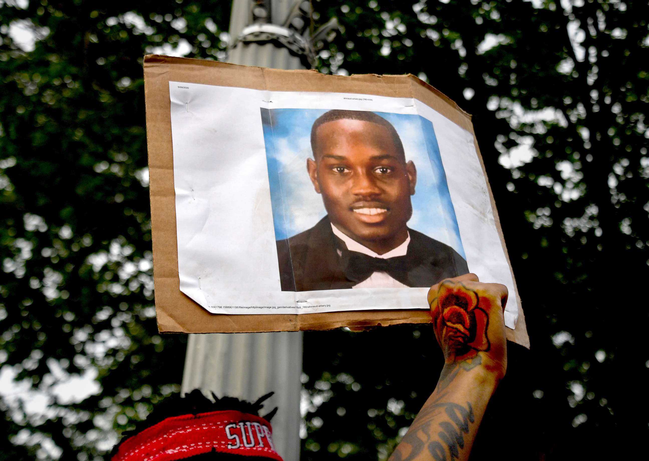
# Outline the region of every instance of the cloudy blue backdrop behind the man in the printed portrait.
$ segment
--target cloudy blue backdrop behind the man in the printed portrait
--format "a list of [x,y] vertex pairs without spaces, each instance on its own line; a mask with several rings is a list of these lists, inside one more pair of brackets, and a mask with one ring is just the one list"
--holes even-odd
[[[326,110],[261,111],[275,238],[283,240],[313,227],[326,215],[322,197],[313,190],[306,172],[306,159],[313,158],[311,127]],[[417,187],[411,197],[413,214],[408,227],[450,245],[466,258],[433,124],[419,115],[376,114],[397,129],[406,161],[413,161],[417,167]]]

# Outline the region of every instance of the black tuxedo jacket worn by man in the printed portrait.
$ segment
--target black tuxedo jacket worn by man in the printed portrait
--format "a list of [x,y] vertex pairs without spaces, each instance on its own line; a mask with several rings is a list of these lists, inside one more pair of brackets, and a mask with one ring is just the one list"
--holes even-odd
[[[457,251],[417,230],[408,231],[408,271],[402,283],[430,287],[445,278],[469,273],[467,262]],[[358,284],[345,276],[337,252],[345,244],[331,230],[328,216],[311,229],[276,243],[282,291],[343,289]]]

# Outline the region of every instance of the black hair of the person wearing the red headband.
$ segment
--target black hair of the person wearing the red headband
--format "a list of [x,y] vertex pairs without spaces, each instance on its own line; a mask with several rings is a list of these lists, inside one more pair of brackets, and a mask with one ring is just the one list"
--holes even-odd
[[[171,418],[173,416],[183,416],[185,414],[199,414],[199,413],[208,413],[212,411],[226,411],[234,410],[241,413],[259,414],[260,410],[263,408],[263,401],[272,396],[274,392],[269,392],[265,396],[262,396],[257,399],[254,403],[245,400],[239,400],[238,398],[224,396],[218,398],[214,394],[212,397],[214,401],[208,399],[202,394],[198,389],[192,390],[189,394],[185,394],[184,397],[180,397],[180,394],[171,396],[164,401],[160,402],[159,405],[156,405],[155,409],[145,421],[140,421],[136,423],[135,429],[132,431],[127,431],[122,434],[122,438],[119,441],[119,444],[113,447],[112,453],[108,456],[108,459],[112,459],[113,456],[117,455],[119,445],[122,442],[125,442],[127,438],[134,436],[138,433],[141,433],[148,427],[156,425],[159,422],[162,422],[166,418]],[[265,416],[261,416],[267,422],[270,422],[275,416],[277,408],[271,410]],[[240,461],[243,458],[242,455],[234,455],[232,453],[217,453],[213,451],[212,453],[202,453],[201,455],[190,456],[191,460],[219,460],[219,461]],[[261,456],[245,456],[245,461],[269,461],[268,458],[263,458]]]

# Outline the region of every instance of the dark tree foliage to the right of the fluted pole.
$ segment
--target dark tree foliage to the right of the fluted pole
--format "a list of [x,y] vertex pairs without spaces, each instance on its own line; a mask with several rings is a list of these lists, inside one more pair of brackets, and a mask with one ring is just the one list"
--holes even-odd
[[[619,456],[649,422],[646,2],[314,5],[345,30],[323,72],[419,74],[473,115],[532,341],[510,344],[474,458]],[[307,335],[303,456],[387,458],[435,348],[424,327]]]

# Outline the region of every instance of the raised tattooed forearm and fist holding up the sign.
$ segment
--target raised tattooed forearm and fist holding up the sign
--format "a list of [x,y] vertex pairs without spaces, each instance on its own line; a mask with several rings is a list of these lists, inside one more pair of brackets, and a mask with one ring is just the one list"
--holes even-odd
[[487,402],[507,369],[507,288],[467,274],[428,291],[445,365],[389,461],[466,461]]

